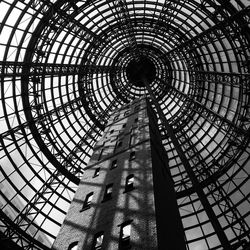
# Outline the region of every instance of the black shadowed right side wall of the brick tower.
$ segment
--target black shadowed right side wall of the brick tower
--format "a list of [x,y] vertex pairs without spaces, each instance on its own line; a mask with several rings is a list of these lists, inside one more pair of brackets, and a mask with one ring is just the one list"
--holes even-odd
[[147,108],[150,120],[149,131],[158,249],[184,250],[186,249],[184,230],[177,206],[174,183],[168,167],[168,156],[162,146],[154,112],[150,105]]

